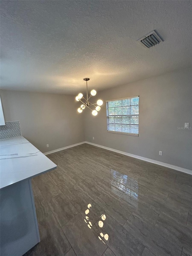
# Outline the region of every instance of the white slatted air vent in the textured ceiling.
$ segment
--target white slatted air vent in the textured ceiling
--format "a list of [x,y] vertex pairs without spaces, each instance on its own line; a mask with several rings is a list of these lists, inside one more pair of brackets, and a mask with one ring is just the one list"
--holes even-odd
[[153,30],[146,36],[143,36],[142,38],[138,39],[137,42],[141,44],[145,48],[151,48],[160,42],[163,42],[163,40],[160,38],[160,36]]

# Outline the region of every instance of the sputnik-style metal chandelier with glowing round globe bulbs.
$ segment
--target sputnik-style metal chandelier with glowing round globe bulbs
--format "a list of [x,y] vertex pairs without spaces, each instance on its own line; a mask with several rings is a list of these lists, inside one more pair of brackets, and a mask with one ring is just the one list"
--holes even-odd
[[[86,81],[86,85],[87,85],[87,81],[89,81],[90,79],[89,78],[84,78],[83,79],[84,81]],[[76,96],[76,101],[81,101],[82,102],[82,105],[81,107],[79,107],[77,109],[77,111],[79,113],[81,113],[83,111],[83,109],[85,109],[85,107],[88,107],[91,111],[92,111],[92,115],[93,116],[97,116],[98,114],[98,111],[101,109],[101,105],[103,105],[103,101],[102,100],[98,100],[97,103],[95,104],[92,104],[89,99],[92,97],[92,96],[95,96],[96,95],[96,91],[95,90],[91,90],[91,95],[89,96],[88,98],[88,90],[87,90],[87,99],[85,99],[82,95],[82,93],[79,93],[77,96]],[[83,102],[85,101],[85,102]],[[94,109],[92,109],[92,107],[94,107]]]

